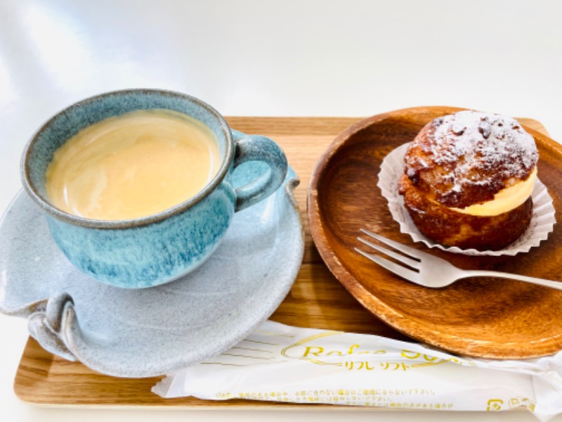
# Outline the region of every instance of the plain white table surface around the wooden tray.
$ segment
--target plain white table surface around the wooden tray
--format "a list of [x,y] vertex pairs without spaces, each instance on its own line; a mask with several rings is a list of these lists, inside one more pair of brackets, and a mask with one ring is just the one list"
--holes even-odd
[[[70,103],[114,89],[182,91],[223,115],[459,106],[533,117],[562,140],[561,17],[561,1],[530,0],[2,0],[0,212],[20,189],[32,132]],[[527,411],[35,407],[13,393],[26,339],[26,321],[0,315],[4,421],[536,420]]]

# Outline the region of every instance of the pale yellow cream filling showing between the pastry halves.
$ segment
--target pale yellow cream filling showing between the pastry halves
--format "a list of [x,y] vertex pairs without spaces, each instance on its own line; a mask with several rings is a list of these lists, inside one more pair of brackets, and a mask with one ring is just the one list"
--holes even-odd
[[503,214],[504,212],[509,212],[529,198],[536,179],[537,167],[535,166],[535,169],[532,170],[532,173],[526,180],[502,189],[495,194],[494,199],[488,200],[485,203],[470,205],[464,208],[450,207],[450,210],[480,217],[492,217]]

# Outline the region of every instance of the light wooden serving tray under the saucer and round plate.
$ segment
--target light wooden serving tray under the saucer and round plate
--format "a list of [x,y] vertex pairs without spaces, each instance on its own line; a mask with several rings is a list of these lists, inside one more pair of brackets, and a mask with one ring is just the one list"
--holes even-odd
[[[301,184],[295,190],[301,207],[305,252],[299,275],[280,307],[270,317],[282,324],[383,335],[409,340],[368,312],[341,286],[313,244],[306,218],[306,195],[316,162],[334,138],[362,118],[351,117],[228,117],[233,129],[270,136],[280,143]],[[536,120],[522,124],[547,134]],[[68,362],[46,352],[34,339],[27,341],[15,376],[15,394],[25,402],[55,405],[158,406],[184,408],[306,407],[308,404],[200,400],[194,397],[163,399],[150,391],[161,378],[104,376],[79,362]]]

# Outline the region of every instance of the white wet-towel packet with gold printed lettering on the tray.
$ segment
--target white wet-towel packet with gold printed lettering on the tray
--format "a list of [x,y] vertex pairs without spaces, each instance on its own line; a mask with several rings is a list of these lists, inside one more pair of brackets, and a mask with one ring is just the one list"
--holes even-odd
[[166,376],[162,397],[257,399],[391,409],[562,413],[562,352],[490,361],[422,345],[266,321],[235,347]]

